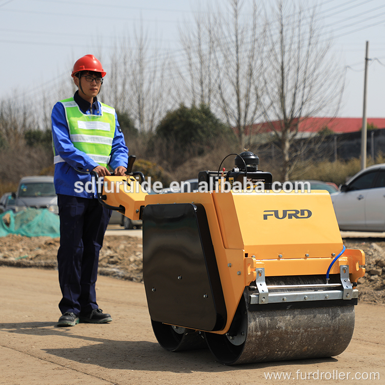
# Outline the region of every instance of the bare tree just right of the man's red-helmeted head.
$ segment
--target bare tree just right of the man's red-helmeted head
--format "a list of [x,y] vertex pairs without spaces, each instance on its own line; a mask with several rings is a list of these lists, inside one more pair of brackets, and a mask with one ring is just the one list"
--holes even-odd
[[168,56],[158,53],[143,26],[115,45],[109,82],[103,94],[121,112],[127,112],[142,132],[152,132],[166,110],[169,86],[165,81]]

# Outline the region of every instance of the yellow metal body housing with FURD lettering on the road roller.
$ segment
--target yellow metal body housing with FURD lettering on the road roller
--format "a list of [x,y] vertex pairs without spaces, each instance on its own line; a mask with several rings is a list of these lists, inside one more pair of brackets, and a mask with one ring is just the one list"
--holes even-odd
[[[326,274],[342,249],[332,201],[326,191],[190,192],[145,198],[146,205],[186,202],[204,206],[215,249],[228,318],[225,327],[214,333],[228,331],[244,287],[256,279],[257,267],[264,267],[266,276]],[[274,217],[264,217],[271,214],[266,210],[278,210],[281,218],[283,210],[293,214],[301,209],[310,210],[311,217],[295,218],[286,213],[285,218],[277,219],[274,212]],[[362,251],[345,251],[331,274],[339,274],[343,263],[349,263],[352,282],[364,275],[364,268],[359,266],[364,264]]]

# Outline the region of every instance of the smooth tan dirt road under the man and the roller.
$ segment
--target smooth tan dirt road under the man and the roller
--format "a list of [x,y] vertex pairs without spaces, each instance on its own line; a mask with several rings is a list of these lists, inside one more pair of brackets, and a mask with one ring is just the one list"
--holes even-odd
[[[353,340],[340,356],[226,367],[208,350],[168,353],[160,348],[142,283],[99,277],[97,288],[99,306],[113,322],[56,328],[57,272],[0,267],[0,384],[385,383],[383,305],[356,306]],[[380,379],[372,374],[370,380],[375,372]],[[279,375],[281,380],[275,379]]]

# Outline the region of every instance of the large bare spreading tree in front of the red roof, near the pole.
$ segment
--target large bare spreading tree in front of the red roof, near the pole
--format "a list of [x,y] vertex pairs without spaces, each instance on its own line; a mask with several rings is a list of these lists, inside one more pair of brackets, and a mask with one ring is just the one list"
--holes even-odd
[[335,117],[343,73],[331,55],[331,39],[317,21],[318,8],[278,0],[271,8],[259,102],[282,152],[281,180],[287,181],[302,150],[293,148],[301,122]]

